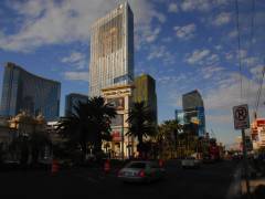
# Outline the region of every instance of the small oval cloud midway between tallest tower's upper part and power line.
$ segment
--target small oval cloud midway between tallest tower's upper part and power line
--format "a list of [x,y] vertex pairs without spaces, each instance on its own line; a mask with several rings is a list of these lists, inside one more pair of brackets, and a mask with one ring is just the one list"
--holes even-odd
[[190,24],[183,25],[183,27],[174,27],[173,29],[176,31],[176,35],[179,39],[189,40],[191,38],[194,38],[194,32],[195,32],[197,27],[194,23],[190,23]]

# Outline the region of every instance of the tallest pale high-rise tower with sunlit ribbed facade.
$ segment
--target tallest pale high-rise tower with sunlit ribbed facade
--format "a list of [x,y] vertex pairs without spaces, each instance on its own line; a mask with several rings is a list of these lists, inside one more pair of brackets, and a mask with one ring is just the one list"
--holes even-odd
[[134,80],[134,14],[121,3],[91,29],[89,96]]

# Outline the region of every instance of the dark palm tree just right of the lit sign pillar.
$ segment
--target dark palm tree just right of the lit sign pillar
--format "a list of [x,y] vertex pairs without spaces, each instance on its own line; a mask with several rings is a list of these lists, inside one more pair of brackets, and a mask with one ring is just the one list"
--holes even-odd
[[140,157],[145,150],[144,137],[153,136],[156,133],[153,121],[153,114],[145,102],[134,103],[127,119],[130,125],[126,135],[137,137]]

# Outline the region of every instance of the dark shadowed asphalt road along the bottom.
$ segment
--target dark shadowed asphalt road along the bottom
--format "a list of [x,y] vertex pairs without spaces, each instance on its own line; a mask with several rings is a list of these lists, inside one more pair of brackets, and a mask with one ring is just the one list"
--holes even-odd
[[115,172],[95,169],[47,171],[1,171],[0,198],[147,198],[225,199],[236,164],[222,161],[200,169],[182,169],[177,161],[167,164],[165,180],[149,185],[123,184]]

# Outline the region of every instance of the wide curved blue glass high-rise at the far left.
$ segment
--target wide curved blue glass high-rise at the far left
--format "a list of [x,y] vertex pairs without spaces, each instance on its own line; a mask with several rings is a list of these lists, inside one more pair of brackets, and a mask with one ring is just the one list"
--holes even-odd
[[52,121],[59,117],[60,95],[60,82],[36,76],[9,62],[4,66],[0,115],[14,116],[23,111]]

